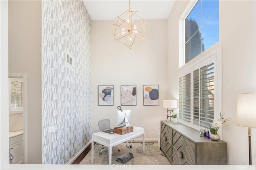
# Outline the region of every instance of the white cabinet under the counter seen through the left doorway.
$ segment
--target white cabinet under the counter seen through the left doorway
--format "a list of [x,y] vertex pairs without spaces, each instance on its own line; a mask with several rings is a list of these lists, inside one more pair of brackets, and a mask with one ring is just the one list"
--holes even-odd
[[23,163],[23,134],[9,139],[10,153],[13,155],[13,164]]

